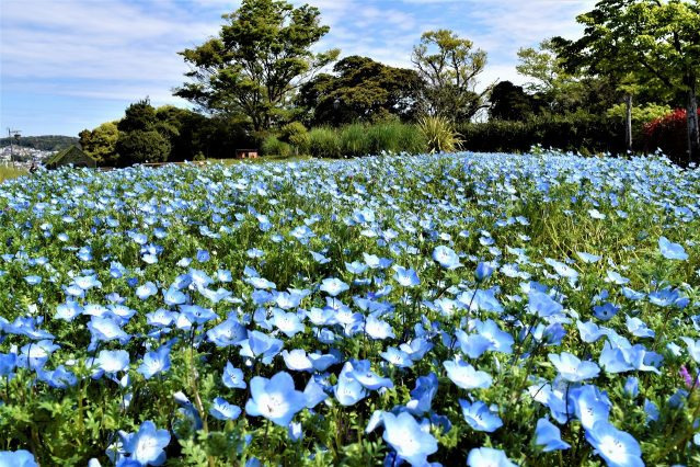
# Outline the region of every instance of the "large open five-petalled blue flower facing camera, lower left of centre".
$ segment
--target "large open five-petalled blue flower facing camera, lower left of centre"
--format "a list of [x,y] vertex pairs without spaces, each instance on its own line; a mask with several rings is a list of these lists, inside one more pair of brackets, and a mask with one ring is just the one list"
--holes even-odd
[[307,406],[303,392],[295,389],[294,379],[286,372],[269,379],[255,376],[250,387],[251,398],[245,403],[245,412],[264,417],[280,426],[288,426],[294,415]]

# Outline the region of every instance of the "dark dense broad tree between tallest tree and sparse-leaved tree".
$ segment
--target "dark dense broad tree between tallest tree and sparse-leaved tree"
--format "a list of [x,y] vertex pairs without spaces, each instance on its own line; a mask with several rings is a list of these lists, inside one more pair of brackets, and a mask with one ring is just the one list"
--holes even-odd
[[297,98],[313,125],[376,122],[415,116],[421,79],[414,70],[394,68],[367,57],[351,56],[305,83]]

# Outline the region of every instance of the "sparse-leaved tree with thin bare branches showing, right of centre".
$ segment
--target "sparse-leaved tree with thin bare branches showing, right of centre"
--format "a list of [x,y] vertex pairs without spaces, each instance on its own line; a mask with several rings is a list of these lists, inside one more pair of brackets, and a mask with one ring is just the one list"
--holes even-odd
[[478,77],[486,66],[486,53],[452,31],[423,33],[413,47],[411,61],[425,81],[424,106],[432,115],[470,119],[485,109],[485,95],[493,86],[478,92]]

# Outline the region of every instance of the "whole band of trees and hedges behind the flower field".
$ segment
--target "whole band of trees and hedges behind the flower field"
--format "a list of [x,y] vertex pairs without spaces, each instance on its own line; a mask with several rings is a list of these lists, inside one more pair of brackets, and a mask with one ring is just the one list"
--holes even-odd
[[523,86],[480,82],[486,52],[447,30],[424,33],[406,50],[412,68],[314,53],[330,31],[320,14],[284,0],[243,0],[218,36],[180,53],[191,71],[174,94],[196,111],[140,101],[122,121],[82,132],[83,148],[116,166],[229,158],[237,148],[343,157],[533,145],[613,153],[661,147],[678,162],[700,160],[697,1],[599,1],[577,18],[581,38],[518,52]]

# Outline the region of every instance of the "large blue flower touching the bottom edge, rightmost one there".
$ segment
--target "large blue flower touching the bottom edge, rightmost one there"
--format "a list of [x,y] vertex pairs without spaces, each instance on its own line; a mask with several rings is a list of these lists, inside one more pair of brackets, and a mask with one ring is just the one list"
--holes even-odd
[[607,421],[598,421],[586,430],[586,441],[610,467],[644,467],[642,449],[634,436]]

